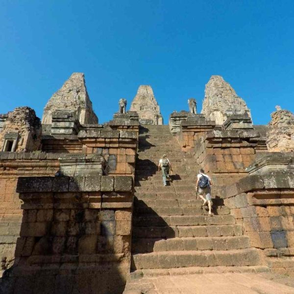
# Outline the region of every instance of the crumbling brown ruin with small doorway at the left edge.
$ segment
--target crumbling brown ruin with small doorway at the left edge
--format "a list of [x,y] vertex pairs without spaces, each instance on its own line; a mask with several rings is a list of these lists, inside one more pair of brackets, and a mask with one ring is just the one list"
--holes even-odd
[[[5,119],[3,119],[5,117]],[[2,115],[0,151],[27,152],[39,150],[42,126],[33,109],[17,107]],[[11,146],[7,141],[11,141]]]

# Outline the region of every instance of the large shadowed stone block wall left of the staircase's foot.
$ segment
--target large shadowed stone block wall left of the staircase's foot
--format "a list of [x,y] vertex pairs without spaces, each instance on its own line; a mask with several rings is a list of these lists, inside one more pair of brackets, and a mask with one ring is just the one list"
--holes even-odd
[[23,177],[6,294],[120,293],[130,270],[131,176]]

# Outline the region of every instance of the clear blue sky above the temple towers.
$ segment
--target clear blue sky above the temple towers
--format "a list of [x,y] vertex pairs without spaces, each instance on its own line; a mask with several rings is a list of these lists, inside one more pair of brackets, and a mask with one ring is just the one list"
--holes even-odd
[[149,84],[167,123],[219,74],[264,124],[276,104],[294,112],[294,1],[2,0],[0,68],[0,113],[41,118],[83,72],[99,122]]

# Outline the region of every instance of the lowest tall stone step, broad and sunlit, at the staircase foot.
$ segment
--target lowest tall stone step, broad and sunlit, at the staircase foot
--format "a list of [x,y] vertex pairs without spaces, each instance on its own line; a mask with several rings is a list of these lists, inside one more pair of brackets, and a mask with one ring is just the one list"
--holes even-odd
[[191,250],[138,253],[132,255],[132,270],[172,269],[188,267],[256,266],[260,264],[258,249]]

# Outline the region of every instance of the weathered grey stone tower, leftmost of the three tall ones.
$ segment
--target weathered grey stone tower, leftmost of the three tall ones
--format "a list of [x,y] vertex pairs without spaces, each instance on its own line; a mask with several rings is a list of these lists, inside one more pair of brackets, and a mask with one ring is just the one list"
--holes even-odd
[[55,111],[70,111],[79,123],[98,123],[89,98],[84,74],[73,73],[63,86],[53,94],[44,108],[42,123],[52,123]]

